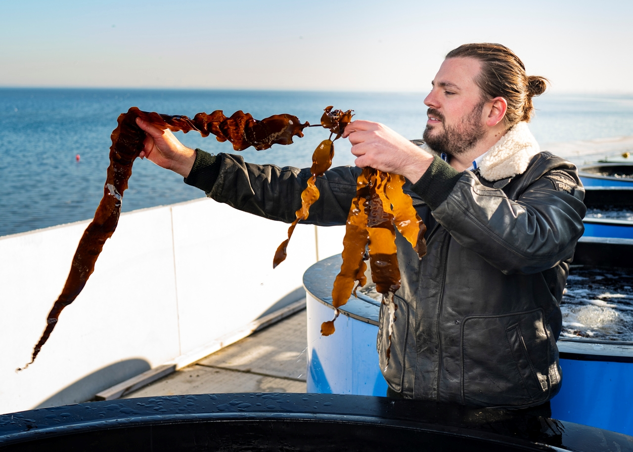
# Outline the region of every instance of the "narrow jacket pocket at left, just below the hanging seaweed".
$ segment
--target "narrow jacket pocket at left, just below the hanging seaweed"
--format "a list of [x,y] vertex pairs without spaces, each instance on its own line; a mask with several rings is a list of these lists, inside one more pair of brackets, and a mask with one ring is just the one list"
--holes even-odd
[[391,350],[387,363],[387,349],[389,348],[389,307],[380,304],[380,322],[376,341],[380,370],[385,380],[394,391],[402,391],[404,380],[404,351],[406,350],[406,336],[409,329],[409,307],[399,296],[394,296],[398,306],[396,320],[392,326]]

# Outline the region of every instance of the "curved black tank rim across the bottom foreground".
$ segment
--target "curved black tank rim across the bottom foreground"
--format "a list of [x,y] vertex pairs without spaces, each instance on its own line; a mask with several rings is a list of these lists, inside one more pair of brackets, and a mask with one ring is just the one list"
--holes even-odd
[[1,451],[633,451],[528,411],[334,394],[196,394],[0,415]]

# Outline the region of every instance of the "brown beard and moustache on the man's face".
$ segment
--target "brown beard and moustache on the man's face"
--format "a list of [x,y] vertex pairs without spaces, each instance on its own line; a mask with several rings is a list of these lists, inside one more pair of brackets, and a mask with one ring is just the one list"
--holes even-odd
[[438,154],[442,152],[448,156],[464,154],[469,149],[472,149],[486,133],[484,125],[480,122],[484,105],[485,102],[480,102],[468,116],[461,119],[461,124],[457,126],[446,125],[444,123],[444,115],[436,109],[429,108],[427,114],[442,121],[444,132],[431,136],[431,128],[427,125],[422,135],[424,142]]

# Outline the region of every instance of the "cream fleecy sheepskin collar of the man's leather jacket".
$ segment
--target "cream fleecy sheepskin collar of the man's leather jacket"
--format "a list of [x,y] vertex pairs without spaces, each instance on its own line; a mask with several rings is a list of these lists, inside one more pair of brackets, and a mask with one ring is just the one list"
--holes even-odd
[[[425,146],[427,148],[427,146]],[[525,121],[506,132],[487,150],[478,168],[482,178],[491,182],[511,178],[527,169],[530,159],[541,152]]]

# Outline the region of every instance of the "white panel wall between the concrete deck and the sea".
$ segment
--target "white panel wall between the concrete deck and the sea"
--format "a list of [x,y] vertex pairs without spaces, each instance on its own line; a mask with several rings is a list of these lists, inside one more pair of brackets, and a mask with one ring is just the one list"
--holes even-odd
[[0,237],[0,413],[88,400],[280,300],[295,301],[303,272],[317,253],[341,252],[344,234],[342,226],[300,224],[273,271],[287,224],[210,199],[123,214],[84,291],[35,363],[16,373],[30,360],[87,224]]

